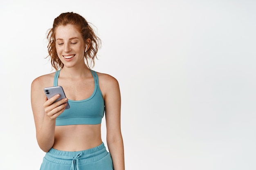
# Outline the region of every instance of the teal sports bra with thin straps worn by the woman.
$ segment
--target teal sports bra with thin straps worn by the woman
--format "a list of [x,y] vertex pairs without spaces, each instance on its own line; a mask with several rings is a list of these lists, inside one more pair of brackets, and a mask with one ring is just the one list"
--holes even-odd
[[[92,71],[94,78],[94,91],[92,95],[83,100],[68,100],[70,108],[64,110],[56,118],[56,126],[79,125],[79,124],[101,124],[105,112],[104,99],[99,89],[99,78],[95,71]],[[54,76],[54,86],[58,86],[60,70]]]

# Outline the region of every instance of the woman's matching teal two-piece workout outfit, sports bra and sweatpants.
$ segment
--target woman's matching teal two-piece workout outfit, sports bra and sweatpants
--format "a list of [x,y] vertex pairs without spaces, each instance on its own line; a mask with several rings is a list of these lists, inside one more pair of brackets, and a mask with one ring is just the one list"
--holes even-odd
[[[60,70],[54,76],[54,86],[58,86]],[[99,88],[99,78],[92,71],[94,91],[83,100],[68,100],[70,108],[56,118],[56,126],[78,124],[101,124],[104,116],[104,99]],[[51,148],[45,154],[40,170],[113,170],[110,153],[101,145],[81,151],[61,151]]]

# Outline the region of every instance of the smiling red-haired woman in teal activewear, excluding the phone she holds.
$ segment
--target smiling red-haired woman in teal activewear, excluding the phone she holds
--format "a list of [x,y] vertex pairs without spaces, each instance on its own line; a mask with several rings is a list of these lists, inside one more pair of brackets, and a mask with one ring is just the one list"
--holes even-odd
[[[73,12],[55,18],[47,38],[56,72],[31,84],[36,139],[47,152],[41,170],[124,170],[119,84],[114,77],[90,69],[101,40]],[[62,86],[67,98],[55,103],[59,95],[47,99],[43,89],[50,86]],[[70,109],[65,110],[67,101]],[[101,139],[104,112],[109,152]]]

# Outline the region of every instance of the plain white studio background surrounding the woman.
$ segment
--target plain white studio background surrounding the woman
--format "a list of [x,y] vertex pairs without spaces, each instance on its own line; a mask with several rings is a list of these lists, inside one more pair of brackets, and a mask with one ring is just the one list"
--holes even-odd
[[256,169],[256,1],[2,0],[0,170],[40,168],[30,85],[67,11],[97,27],[93,69],[119,81],[127,170]]

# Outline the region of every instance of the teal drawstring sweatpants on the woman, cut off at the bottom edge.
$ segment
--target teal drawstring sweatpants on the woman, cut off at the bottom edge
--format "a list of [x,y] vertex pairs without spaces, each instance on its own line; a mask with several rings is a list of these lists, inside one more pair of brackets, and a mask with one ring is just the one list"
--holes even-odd
[[40,170],[113,170],[110,153],[102,143],[82,151],[50,149],[43,158]]

